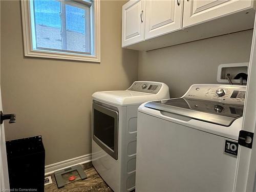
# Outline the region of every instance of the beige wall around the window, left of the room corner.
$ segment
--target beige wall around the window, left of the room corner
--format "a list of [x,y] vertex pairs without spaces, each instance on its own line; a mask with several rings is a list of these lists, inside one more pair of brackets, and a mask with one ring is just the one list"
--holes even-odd
[[19,1],[1,1],[6,139],[42,135],[46,164],[91,153],[91,95],[137,79],[138,52],[121,49],[122,1],[101,2],[101,63],[24,57]]

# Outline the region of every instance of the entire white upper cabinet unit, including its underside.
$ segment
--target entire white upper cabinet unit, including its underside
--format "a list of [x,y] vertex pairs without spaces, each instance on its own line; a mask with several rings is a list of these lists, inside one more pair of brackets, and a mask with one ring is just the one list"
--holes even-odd
[[122,9],[122,47],[148,51],[252,29],[255,5],[254,0],[131,0]]

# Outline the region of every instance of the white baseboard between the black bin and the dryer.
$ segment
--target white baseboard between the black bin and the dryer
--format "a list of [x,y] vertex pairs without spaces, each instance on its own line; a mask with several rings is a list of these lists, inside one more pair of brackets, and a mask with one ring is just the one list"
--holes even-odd
[[92,161],[92,154],[87,154],[87,155],[83,155],[80,157],[68,159],[65,161],[60,161],[58,163],[46,165],[45,166],[45,175],[52,174],[52,173],[56,172],[56,170],[60,170],[60,169],[67,168],[67,167],[77,165],[77,164],[88,163],[91,161]]

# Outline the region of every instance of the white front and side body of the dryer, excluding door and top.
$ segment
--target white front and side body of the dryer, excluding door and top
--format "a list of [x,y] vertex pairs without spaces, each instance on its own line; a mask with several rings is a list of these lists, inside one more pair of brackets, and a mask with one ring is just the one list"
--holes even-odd
[[[109,103],[102,103],[108,106]],[[106,153],[92,140],[92,163],[99,175],[114,191],[135,189],[137,110],[139,105],[118,108],[118,159]]]

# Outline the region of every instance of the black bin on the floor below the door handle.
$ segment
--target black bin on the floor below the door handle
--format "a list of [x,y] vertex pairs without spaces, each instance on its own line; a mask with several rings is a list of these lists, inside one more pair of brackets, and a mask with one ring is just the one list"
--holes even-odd
[[6,151],[10,188],[44,192],[45,148],[41,136],[7,141]]

